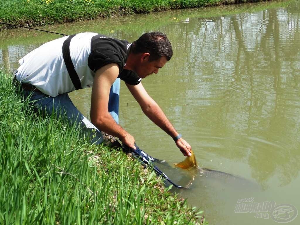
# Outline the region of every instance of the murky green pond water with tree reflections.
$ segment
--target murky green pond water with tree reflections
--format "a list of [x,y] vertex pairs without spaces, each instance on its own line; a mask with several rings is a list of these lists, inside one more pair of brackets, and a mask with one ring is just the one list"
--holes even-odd
[[[201,167],[247,181],[171,167],[183,155],[143,115],[125,85],[120,124],[144,151],[167,160],[164,172],[190,187],[180,195],[205,210],[210,224],[277,224],[272,218],[256,218],[256,213],[235,213],[241,198],[300,210],[299,1],[176,10],[42,29],[98,32],[128,41],[148,31],[167,33],[174,56],[143,85],[190,143]],[[1,64],[13,70],[17,59],[58,37],[27,29],[0,32]],[[90,91],[71,94],[87,116]],[[289,224],[299,221],[300,216]]]

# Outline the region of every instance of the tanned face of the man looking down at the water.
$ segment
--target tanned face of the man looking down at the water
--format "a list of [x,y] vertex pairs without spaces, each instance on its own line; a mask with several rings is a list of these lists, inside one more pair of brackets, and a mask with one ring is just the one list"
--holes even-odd
[[149,61],[149,56],[142,57],[140,64],[136,67],[136,72],[140,78],[145,78],[152,73],[158,73],[158,70],[167,63],[167,58],[162,56],[158,60]]

